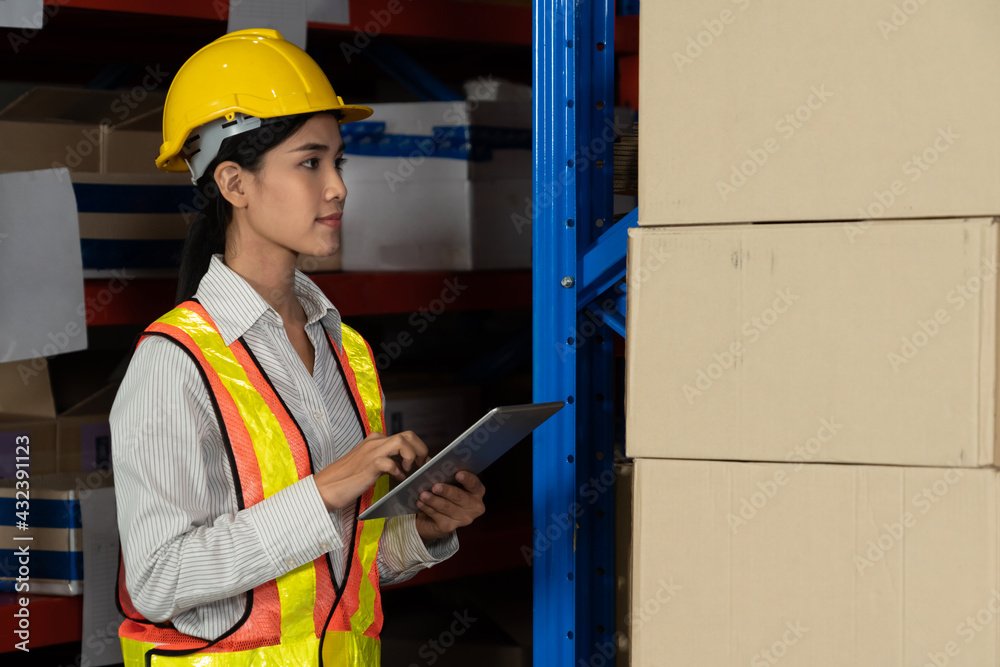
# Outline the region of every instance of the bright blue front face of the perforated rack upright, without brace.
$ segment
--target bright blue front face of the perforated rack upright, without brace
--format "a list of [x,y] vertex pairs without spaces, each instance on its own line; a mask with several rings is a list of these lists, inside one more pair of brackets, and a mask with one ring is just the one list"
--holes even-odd
[[532,392],[536,402],[566,401],[532,438],[533,664],[570,667],[577,630],[576,112],[568,106],[577,85],[575,4],[536,0],[532,41]]

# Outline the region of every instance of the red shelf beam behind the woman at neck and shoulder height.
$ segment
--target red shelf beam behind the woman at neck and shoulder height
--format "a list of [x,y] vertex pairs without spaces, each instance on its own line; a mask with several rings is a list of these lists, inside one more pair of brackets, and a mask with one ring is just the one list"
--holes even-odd
[[[531,308],[531,272],[314,273],[340,314],[381,315]],[[174,305],[175,278],[83,281],[87,324],[149,324]]]

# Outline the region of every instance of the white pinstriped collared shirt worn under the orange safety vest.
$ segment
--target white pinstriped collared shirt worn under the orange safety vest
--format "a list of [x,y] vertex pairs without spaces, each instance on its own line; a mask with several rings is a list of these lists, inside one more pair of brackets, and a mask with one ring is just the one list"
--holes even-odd
[[[295,417],[319,471],[364,439],[353,398],[324,340],[341,349],[340,313],[295,271],[295,296],[316,351],[313,375],[281,316],[212,256],[195,298],[226,345],[243,336]],[[176,343],[148,336],[136,348],[111,408],[111,446],[126,585],[151,621],[215,639],[242,616],[246,591],[327,554],[342,581],[354,505],[328,512],[312,475],[238,510],[229,459],[195,362]],[[419,435],[419,434],[418,434]],[[383,585],[403,581],[458,550],[453,531],[425,546],[415,515],[389,519],[378,551]]]

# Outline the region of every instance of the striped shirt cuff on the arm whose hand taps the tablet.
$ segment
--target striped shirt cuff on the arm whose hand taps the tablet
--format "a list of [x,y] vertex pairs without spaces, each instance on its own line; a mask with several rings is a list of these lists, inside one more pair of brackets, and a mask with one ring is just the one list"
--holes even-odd
[[247,511],[278,575],[338,550],[343,544],[312,475]]

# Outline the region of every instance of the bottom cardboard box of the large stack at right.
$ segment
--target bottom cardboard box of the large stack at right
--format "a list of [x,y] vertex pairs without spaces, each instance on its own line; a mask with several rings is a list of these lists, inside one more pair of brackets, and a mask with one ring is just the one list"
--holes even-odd
[[997,664],[998,475],[636,460],[634,664]]

